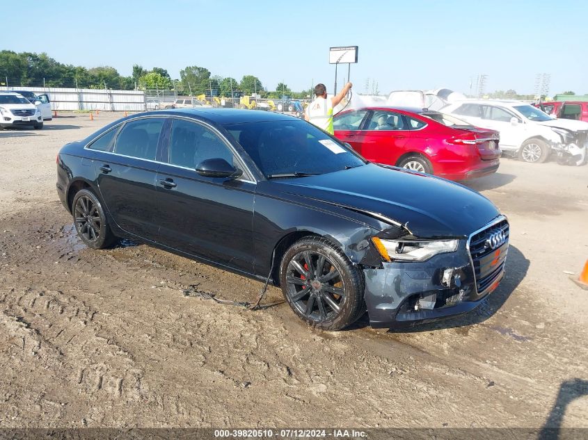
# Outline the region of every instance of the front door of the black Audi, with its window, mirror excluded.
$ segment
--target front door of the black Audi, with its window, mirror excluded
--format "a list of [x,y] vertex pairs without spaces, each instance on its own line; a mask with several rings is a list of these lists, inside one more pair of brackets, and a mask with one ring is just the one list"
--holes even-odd
[[[174,118],[157,173],[162,243],[223,266],[253,272],[255,181],[213,127]],[[196,166],[223,158],[244,170],[235,180],[203,177]]]

